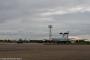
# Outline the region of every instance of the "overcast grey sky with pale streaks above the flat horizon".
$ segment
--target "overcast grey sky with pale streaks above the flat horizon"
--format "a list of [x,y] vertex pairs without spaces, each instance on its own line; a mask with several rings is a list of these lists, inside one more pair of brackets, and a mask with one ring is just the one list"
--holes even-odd
[[0,0],[0,38],[45,39],[50,24],[90,39],[90,0]]

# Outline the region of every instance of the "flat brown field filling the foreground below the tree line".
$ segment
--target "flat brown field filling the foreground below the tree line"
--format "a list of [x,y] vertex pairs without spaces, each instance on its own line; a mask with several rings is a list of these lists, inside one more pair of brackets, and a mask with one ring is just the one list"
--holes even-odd
[[0,58],[90,60],[90,45],[0,44]]

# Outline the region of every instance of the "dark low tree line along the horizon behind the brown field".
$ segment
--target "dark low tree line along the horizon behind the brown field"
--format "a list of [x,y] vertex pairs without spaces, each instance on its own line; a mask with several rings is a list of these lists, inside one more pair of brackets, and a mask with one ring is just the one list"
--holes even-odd
[[90,41],[84,41],[84,40],[76,40],[73,43],[68,40],[68,41],[57,41],[57,40],[23,40],[23,39],[19,39],[19,40],[0,40],[0,43],[49,43],[49,44],[72,44],[72,45],[90,45]]

